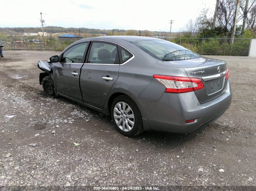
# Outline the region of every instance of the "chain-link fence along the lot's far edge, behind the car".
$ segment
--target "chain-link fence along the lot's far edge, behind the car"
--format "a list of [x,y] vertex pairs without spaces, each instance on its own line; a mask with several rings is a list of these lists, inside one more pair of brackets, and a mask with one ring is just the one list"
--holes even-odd
[[[79,38],[8,38],[0,39],[4,50],[52,50],[62,51]],[[171,38],[165,39],[184,46],[201,55],[248,56],[250,38]]]

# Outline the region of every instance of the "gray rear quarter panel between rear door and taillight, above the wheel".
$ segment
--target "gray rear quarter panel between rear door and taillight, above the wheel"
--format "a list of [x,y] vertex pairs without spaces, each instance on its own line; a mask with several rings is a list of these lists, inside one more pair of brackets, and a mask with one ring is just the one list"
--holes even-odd
[[125,46],[134,54],[134,59],[120,65],[119,78],[110,92],[121,92],[133,100],[156,103],[165,91],[165,86],[153,78],[153,75],[186,76],[183,68],[170,67],[143,50],[129,43]]

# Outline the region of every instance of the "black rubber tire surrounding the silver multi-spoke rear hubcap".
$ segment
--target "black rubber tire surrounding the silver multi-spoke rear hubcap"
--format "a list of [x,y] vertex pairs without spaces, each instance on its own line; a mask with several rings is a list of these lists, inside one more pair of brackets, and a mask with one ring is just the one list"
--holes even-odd
[[[115,109],[116,104],[119,103],[119,102],[124,102],[127,105],[126,108],[130,107],[131,108],[131,112],[134,115],[134,126],[132,127],[132,129],[130,131],[128,131],[128,128],[125,128],[126,131],[120,129],[121,127],[119,128],[118,125],[117,125],[118,122],[115,121],[114,109]],[[124,110],[123,104],[121,104],[121,110]],[[128,110],[126,110],[126,111],[128,111]],[[131,112],[127,113],[127,116],[131,115]],[[121,114],[119,114],[119,113],[116,113],[116,115],[118,115],[118,117],[121,116]],[[112,102],[112,104],[111,104],[111,118],[112,118],[112,121],[113,121],[116,129],[119,132],[121,132],[123,135],[125,135],[125,136],[133,137],[133,136],[139,135],[140,133],[142,133],[144,131],[143,124],[142,124],[141,112],[140,112],[138,106],[136,105],[135,101],[132,100],[130,97],[126,96],[126,95],[118,96]],[[125,116],[124,116],[124,118],[119,117],[116,120],[120,120],[120,119],[124,119],[124,121],[125,121]],[[123,124],[124,124],[124,122],[122,121],[120,125],[122,126]],[[126,118],[126,124],[128,124],[127,118]],[[125,124],[125,127],[127,127],[126,124]]]

